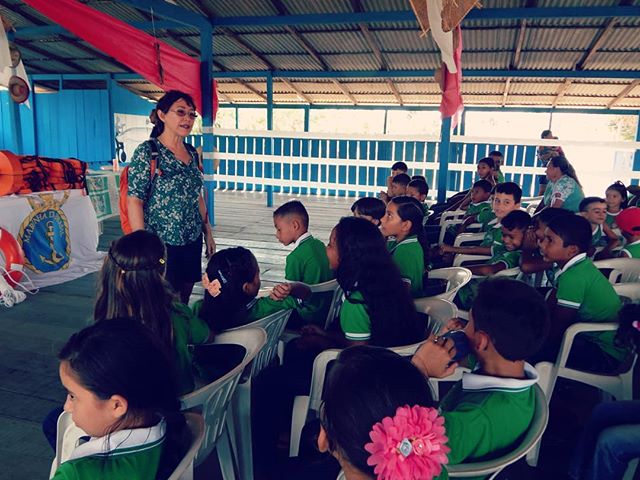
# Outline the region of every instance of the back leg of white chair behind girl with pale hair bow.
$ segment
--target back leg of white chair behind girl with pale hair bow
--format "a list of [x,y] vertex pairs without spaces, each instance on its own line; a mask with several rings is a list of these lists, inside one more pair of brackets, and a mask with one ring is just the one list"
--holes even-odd
[[227,416],[241,479],[253,480],[251,448],[251,380],[238,385]]

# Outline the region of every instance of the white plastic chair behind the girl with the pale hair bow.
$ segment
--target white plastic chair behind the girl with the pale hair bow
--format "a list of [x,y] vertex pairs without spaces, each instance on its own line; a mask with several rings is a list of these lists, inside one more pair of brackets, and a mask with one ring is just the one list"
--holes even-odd
[[238,460],[240,478],[253,478],[253,452],[251,447],[251,382],[278,353],[278,339],[293,310],[283,310],[248,325],[226,330],[239,332],[247,328],[262,328],[267,334],[267,343],[247,367],[240,379],[229,407],[229,431],[233,439],[234,451]]

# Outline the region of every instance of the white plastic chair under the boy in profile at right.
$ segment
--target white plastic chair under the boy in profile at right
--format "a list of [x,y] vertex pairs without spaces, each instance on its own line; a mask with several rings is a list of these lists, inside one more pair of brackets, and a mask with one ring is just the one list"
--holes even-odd
[[[637,355],[634,355],[627,371],[614,375],[583,372],[567,367],[567,360],[571,353],[573,340],[578,334],[615,331],[617,329],[618,324],[616,322],[581,322],[574,323],[567,328],[562,338],[562,344],[556,362],[540,362],[535,366],[540,376],[539,385],[545,392],[549,402],[551,401],[551,396],[553,395],[553,390],[559,377],[596,387],[615,397],[616,400],[631,400],[633,398],[633,369],[638,359]],[[532,467],[538,464],[539,450],[540,445],[536,445],[527,455],[527,463]]]

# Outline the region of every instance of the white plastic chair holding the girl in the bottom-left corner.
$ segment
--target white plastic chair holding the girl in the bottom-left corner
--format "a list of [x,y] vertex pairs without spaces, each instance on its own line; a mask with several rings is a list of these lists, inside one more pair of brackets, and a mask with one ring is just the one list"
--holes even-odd
[[[185,413],[184,416],[191,433],[191,445],[168,480],[193,480],[193,461],[204,439],[204,420],[202,415]],[[78,439],[86,435],[82,429],[73,423],[70,413],[62,412],[60,414],[56,438],[56,457],[53,459],[49,478],[52,478],[60,464],[71,456]]]

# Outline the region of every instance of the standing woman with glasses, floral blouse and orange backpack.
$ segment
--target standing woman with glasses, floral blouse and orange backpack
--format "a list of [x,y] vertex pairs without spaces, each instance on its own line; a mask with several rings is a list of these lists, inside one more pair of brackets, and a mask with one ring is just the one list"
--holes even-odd
[[[198,154],[184,141],[198,114],[188,94],[172,90],[158,101],[156,117],[151,140],[138,145],[131,159],[129,222],[134,231],[150,230],[166,244],[166,278],[186,304],[193,284],[202,276],[203,236],[207,256],[216,249],[202,195]],[[152,176],[154,151],[157,161]]]

